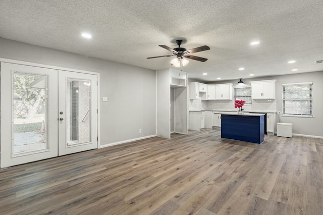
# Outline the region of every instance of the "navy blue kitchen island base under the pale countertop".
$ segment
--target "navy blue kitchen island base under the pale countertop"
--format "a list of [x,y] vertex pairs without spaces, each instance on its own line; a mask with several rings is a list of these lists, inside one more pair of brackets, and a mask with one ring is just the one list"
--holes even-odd
[[221,137],[262,143],[264,137],[264,115],[221,115]]

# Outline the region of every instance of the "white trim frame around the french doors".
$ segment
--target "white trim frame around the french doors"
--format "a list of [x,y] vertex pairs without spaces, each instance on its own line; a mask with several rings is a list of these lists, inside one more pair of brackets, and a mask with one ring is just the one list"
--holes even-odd
[[[100,101],[100,99],[99,99],[100,98],[100,74],[99,73],[85,71],[85,70],[65,68],[65,67],[57,67],[57,66],[50,66],[50,65],[44,65],[44,64],[17,61],[17,60],[5,59],[5,58],[0,58],[0,62],[96,75],[97,76],[97,105],[96,105],[97,106],[97,115],[96,115],[97,116],[97,147],[98,148],[100,147],[100,102],[99,102]],[[0,70],[1,70],[1,68],[0,68]],[[1,77],[1,73],[0,73],[0,77]],[[6,91],[1,91],[0,96],[3,96],[5,93],[6,93]],[[7,93],[8,93],[8,91],[7,91]],[[4,113],[2,110],[0,110],[0,113],[1,113],[0,121],[3,122],[4,121],[4,116],[6,115],[6,113]],[[5,127],[4,123],[1,123],[1,125],[2,125],[3,128]],[[0,127],[0,136],[2,136],[2,134],[5,132],[3,128]],[[1,148],[0,148],[0,151],[2,151]],[[3,167],[2,164],[0,164],[0,166]],[[13,166],[13,165],[11,165],[11,166]]]

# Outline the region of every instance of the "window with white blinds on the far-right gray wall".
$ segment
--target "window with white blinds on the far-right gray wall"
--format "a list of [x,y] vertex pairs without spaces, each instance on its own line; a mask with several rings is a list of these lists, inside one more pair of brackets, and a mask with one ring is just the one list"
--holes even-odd
[[313,116],[313,83],[283,84],[283,115]]

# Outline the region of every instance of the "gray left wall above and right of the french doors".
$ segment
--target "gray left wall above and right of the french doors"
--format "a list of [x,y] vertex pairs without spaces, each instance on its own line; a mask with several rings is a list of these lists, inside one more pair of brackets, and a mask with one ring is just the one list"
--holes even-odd
[[100,73],[101,145],[156,134],[155,71],[3,38],[0,58]]

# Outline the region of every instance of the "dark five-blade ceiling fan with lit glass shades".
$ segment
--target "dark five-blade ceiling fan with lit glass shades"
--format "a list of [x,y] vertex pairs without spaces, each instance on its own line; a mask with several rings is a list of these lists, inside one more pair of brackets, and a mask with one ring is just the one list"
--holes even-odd
[[201,58],[201,57],[193,56],[190,54],[195,53],[195,52],[199,52],[199,51],[209,50],[210,47],[208,47],[207,45],[203,45],[200,47],[196,47],[196,48],[192,48],[192,49],[187,50],[186,48],[181,47],[182,41],[183,40],[181,40],[181,39],[176,40],[176,44],[178,44],[177,48],[170,48],[167,45],[159,45],[160,47],[173,52],[173,55],[156,56],[156,57],[150,57],[147,59],[175,56],[176,58],[171,61],[172,65],[174,65],[175,67],[181,67],[181,66],[187,65],[188,64],[187,59],[200,61],[200,62],[207,61],[206,58]]

